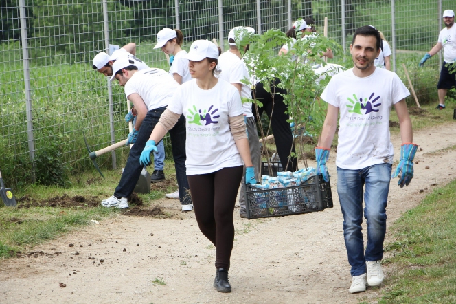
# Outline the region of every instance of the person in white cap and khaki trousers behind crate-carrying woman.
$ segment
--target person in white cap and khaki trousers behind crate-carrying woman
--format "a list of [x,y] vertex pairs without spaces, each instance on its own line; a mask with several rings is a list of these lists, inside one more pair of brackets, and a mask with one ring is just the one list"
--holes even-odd
[[[253,34],[255,30],[249,27],[237,26],[229,31],[228,43],[229,50],[218,57],[218,69],[220,74],[218,78],[231,83],[238,89],[241,98],[252,98],[252,90],[248,85],[242,83],[242,80],[249,80],[249,69],[242,61],[238,47],[236,46],[236,39],[242,40],[245,34]],[[255,170],[255,179],[260,180],[261,173],[261,151],[260,141],[258,140],[258,131],[256,129],[255,118],[252,113],[252,103],[243,102],[242,108],[244,109],[244,120],[247,128],[247,138],[249,139],[250,155],[252,164]],[[242,177],[244,179],[244,177]],[[244,184],[242,180],[241,184]],[[245,206],[245,193],[242,187],[239,195],[240,217],[247,218],[247,210]]]

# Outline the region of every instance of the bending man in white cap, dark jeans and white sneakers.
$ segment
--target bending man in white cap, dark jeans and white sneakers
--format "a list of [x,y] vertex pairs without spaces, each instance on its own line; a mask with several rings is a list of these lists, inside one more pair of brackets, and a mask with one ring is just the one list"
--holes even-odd
[[[125,88],[126,98],[133,102],[137,111],[137,133],[120,182],[113,196],[102,201],[102,206],[128,208],[127,197],[133,193],[144,167],[139,164],[141,151],[179,84],[163,69],[149,68],[139,71],[135,61],[127,57],[121,57],[113,63],[111,81],[113,80],[119,81],[119,85]],[[178,117],[176,125],[169,132],[182,210],[190,211],[192,200],[189,195],[185,195],[189,188],[185,175],[185,118]]]

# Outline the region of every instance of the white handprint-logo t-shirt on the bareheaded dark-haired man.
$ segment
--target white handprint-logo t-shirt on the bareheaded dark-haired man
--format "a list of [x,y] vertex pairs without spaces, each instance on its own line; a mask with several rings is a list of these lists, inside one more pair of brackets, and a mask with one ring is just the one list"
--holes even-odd
[[359,78],[348,69],[334,75],[321,99],[339,107],[339,142],[336,165],[358,170],[374,164],[393,163],[389,136],[391,106],[409,96],[394,72],[375,69]]

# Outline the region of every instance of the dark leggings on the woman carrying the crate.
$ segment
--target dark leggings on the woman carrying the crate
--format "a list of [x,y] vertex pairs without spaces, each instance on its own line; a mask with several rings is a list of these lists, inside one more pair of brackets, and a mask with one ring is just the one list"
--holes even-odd
[[242,169],[236,166],[208,174],[187,175],[198,226],[216,246],[216,268],[229,269],[234,242],[233,211]]

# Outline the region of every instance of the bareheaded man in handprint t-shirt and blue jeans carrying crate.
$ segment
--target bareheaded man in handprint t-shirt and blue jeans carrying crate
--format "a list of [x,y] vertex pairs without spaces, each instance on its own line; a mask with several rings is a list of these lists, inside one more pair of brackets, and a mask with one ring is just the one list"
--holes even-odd
[[[380,265],[386,232],[386,206],[394,149],[389,135],[389,113],[394,106],[400,123],[401,157],[394,175],[398,184],[413,177],[412,127],[404,98],[409,91],[400,78],[374,65],[380,52],[380,34],[371,26],[358,28],[350,45],[354,67],[332,77],[321,94],[328,102],[319,146],[315,148],[317,174],[328,181],[326,161],[339,119],[337,193],[343,214],[343,235],[352,266],[350,292],[377,286],[384,276]],[[364,188],[364,189],[363,189]],[[367,245],[361,224],[367,219]],[[364,248],[365,252],[364,252]]]

